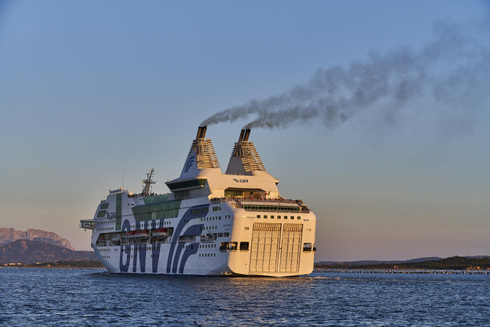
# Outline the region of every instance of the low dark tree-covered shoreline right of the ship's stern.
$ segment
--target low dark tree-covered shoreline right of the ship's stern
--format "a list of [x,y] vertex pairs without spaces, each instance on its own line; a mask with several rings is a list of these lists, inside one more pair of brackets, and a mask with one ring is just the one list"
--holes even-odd
[[481,269],[490,268],[490,258],[465,258],[464,256],[451,256],[449,258],[435,260],[435,261],[422,261],[422,262],[410,262],[410,263],[398,263],[398,264],[367,264],[356,265],[349,263],[336,263],[330,265],[315,265],[315,268],[331,268],[331,269],[393,269],[394,267],[399,269],[457,269],[464,270],[468,267],[480,267]]

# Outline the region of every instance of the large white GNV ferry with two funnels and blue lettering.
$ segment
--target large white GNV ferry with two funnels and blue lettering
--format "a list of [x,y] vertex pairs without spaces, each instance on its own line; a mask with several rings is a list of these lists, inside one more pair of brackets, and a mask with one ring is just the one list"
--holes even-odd
[[198,128],[179,178],[154,194],[109,191],[93,219],[91,246],[114,274],[297,276],[313,271],[316,217],[302,200],[282,197],[265,171],[250,129],[241,130],[226,173],[206,126]]

